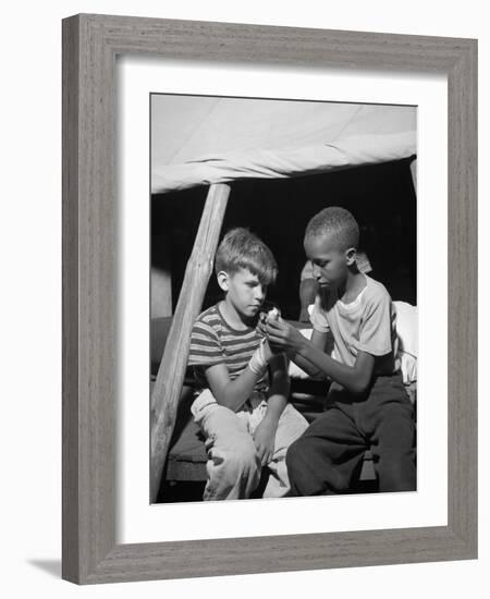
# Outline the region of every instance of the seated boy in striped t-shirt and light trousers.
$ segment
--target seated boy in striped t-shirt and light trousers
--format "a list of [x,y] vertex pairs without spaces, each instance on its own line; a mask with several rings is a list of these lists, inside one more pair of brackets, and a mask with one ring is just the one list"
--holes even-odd
[[257,330],[277,264],[264,242],[238,228],[218,247],[215,270],[224,300],[197,318],[189,351],[199,390],[191,411],[208,451],[204,499],[250,497],[265,466],[264,497],[283,497],[286,450],[308,425],[287,403],[284,354],[273,354]]

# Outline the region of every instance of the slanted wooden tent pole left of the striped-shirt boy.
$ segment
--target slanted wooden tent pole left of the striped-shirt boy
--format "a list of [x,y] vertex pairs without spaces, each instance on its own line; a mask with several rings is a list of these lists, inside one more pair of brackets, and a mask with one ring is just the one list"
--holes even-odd
[[211,276],[229,195],[229,185],[218,183],[209,187],[151,394],[150,499],[152,503],[157,500],[175,425],[179,399],[187,367],[191,331],[201,308],[206,286]]

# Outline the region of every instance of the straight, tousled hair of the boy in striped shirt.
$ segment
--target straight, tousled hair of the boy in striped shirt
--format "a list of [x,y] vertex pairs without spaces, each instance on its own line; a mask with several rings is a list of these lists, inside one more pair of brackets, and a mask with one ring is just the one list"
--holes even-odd
[[237,227],[222,239],[215,259],[215,271],[236,272],[247,268],[261,284],[269,285],[278,276],[278,264],[267,245],[248,229]]

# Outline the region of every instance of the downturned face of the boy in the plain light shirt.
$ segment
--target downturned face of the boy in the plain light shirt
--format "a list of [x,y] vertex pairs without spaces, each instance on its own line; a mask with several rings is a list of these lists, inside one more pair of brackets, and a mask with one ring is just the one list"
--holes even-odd
[[305,252],[311,260],[314,279],[322,289],[338,288],[345,282],[352,262],[352,249],[340,249],[333,236],[318,235],[305,239]]

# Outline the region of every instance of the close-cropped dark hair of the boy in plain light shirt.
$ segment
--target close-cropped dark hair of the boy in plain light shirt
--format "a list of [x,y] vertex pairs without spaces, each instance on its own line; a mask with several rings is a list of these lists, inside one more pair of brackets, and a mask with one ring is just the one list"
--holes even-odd
[[322,235],[335,237],[340,249],[357,249],[359,245],[359,225],[356,219],[348,210],[339,206],[323,208],[308,222],[305,240]]

